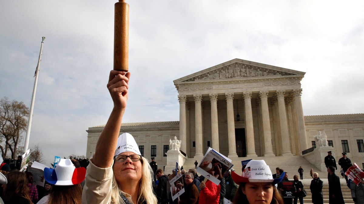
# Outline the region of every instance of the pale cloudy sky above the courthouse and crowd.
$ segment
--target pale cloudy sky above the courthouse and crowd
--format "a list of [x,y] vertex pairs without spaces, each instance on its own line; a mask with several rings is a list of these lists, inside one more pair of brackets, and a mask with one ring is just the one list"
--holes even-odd
[[[47,165],[86,155],[86,130],[111,112],[116,2],[0,0],[0,98],[30,106],[46,37],[29,147],[39,145]],[[173,80],[234,58],[306,72],[304,115],[364,113],[364,1],[126,2],[123,122],[178,121]]]

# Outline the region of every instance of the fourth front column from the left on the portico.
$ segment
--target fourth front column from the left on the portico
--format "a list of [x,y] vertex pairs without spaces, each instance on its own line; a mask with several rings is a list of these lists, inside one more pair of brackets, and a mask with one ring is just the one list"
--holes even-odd
[[235,123],[234,123],[234,93],[225,93],[227,106],[227,140],[229,142],[229,154],[227,157],[238,157],[236,154]]

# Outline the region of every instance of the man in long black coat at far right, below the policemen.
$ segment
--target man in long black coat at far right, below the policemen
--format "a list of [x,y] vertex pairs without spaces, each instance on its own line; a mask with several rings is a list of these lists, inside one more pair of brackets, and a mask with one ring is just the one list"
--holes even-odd
[[335,174],[335,167],[327,167],[327,173],[330,174],[329,180],[329,203],[343,204],[343,192],[341,192],[340,178]]

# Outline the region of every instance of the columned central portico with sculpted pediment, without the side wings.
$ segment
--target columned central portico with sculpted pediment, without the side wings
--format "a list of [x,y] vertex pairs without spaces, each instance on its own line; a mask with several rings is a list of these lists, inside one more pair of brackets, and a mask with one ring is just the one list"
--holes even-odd
[[[301,154],[307,148],[300,83],[304,74],[234,59],[174,80],[181,150],[202,156],[208,148],[203,141],[208,141],[228,157]],[[237,137],[243,144],[237,144]]]

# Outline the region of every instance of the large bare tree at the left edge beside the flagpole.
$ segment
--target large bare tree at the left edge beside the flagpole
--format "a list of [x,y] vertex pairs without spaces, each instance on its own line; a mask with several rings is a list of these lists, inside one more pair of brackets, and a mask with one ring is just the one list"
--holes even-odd
[[0,100],[0,150],[3,159],[9,155],[16,158],[19,140],[27,129],[29,108],[23,102],[9,101],[8,97]]

